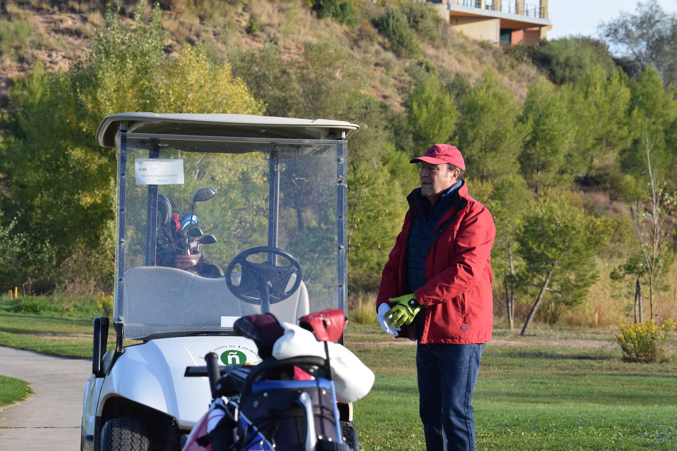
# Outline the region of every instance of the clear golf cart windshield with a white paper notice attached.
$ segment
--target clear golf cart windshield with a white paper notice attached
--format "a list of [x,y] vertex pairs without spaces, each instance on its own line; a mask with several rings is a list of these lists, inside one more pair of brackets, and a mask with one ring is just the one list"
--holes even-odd
[[119,133],[124,337],[345,309],[346,141]]

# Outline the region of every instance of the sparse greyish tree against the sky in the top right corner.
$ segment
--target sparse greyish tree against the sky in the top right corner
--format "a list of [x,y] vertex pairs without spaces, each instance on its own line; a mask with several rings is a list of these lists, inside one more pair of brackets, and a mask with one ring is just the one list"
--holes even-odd
[[600,35],[615,50],[636,67],[647,65],[657,68],[663,81],[677,81],[677,16],[668,14],[656,0],[638,2],[635,14],[621,11],[618,18],[603,22],[598,27]]

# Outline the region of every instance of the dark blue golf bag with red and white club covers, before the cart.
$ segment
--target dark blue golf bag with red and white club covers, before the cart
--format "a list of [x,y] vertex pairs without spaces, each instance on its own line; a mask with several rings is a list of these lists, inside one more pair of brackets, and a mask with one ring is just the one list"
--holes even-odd
[[[341,320],[336,319],[337,313],[331,317],[328,311],[309,315],[306,318],[309,321],[303,321],[302,318],[301,325],[311,327],[314,323],[315,327],[321,329],[316,335],[295,325],[281,326],[271,314],[238,319],[236,331],[257,343],[263,361],[256,366],[222,367],[225,372],[219,377],[217,356],[207,354],[207,373],[210,381],[215,381],[212,393],[214,401],[204,418],[206,427],[200,431],[196,427],[183,450],[202,450],[199,446],[211,446],[214,451],[351,450],[343,440],[336,408],[328,344],[327,341],[322,343],[315,339],[318,335],[324,339],[336,339],[336,331],[341,336],[345,316],[340,310],[334,312],[341,312]],[[303,352],[303,347],[297,346],[299,337],[303,337],[303,341],[312,341],[309,343],[311,354],[320,354],[318,349],[321,349],[324,355],[276,358],[277,354],[284,354],[285,348],[289,346],[297,350],[301,348],[299,352]],[[348,350],[345,352],[353,355]],[[355,362],[350,360],[349,364],[354,366]],[[359,364],[364,366],[361,362]],[[190,367],[186,375],[189,375],[189,370]],[[368,373],[372,379],[366,384],[366,390],[358,390],[357,394],[355,389],[342,389],[344,397],[364,396],[373,383],[373,373]],[[221,396],[230,398],[224,403]],[[201,433],[204,435],[198,437]]]

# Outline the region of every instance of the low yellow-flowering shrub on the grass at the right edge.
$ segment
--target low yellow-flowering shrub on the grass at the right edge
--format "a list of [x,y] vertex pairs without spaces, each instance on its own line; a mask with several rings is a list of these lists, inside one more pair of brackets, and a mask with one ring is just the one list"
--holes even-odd
[[644,323],[621,324],[621,333],[615,336],[623,350],[623,356],[630,362],[666,362],[672,350],[668,339],[674,335],[675,322],[668,318],[661,325],[654,320]]

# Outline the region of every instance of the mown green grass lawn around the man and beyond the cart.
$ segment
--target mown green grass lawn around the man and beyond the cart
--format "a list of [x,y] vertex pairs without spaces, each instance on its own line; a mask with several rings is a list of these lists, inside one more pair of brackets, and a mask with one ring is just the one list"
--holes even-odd
[[[91,318],[0,308],[0,346],[89,358],[91,327]],[[473,401],[478,450],[677,450],[674,362],[626,363],[611,331],[531,332],[496,329],[485,348]],[[376,374],[355,403],[362,450],[424,450],[416,346],[376,325],[350,325],[346,345]]]

